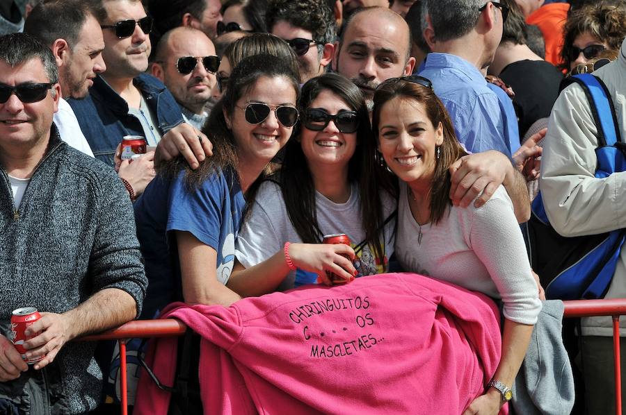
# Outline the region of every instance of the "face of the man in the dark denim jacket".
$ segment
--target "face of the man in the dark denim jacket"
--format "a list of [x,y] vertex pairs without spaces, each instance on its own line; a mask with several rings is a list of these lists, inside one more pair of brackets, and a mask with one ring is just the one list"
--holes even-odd
[[[105,25],[113,25],[122,20],[139,20],[146,16],[141,1],[113,0],[104,2],[106,8]],[[139,25],[129,37],[118,39],[114,28],[102,29],[106,63],[106,78],[134,78],[147,69],[150,56],[150,37],[143,33]]]

